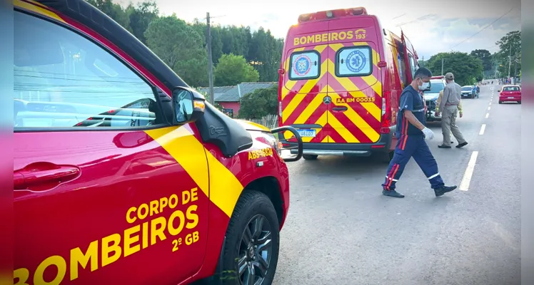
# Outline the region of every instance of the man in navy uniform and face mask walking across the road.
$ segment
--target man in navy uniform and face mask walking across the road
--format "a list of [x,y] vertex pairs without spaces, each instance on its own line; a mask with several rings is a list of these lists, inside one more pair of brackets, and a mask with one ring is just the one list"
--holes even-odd
[[395,185],[411,157],[425,173],[435,197],[456,189],[456,186],[445,186],[443,183],[438,172],[438,163],[425,142],[425,138],[432,140],[434,133],[425,127],[425,100],[420,95],[420,90],[428,88],[430,77],[432,73],[427,68],[419,68],[415,71],[412,83],[406,86],[401,94],[395,134],[398,141],[386,172],[386,181],[382,184],[383,195],[404,197],[396,192]]

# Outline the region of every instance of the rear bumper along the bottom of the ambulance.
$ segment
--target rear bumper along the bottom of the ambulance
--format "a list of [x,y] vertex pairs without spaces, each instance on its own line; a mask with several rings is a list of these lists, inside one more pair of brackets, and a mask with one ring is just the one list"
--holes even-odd
[[[388,134],[381,134],[378,142],[374,143],[328,143],[328,142],[304,142],[303,155],[354,155],[370,156],[374,152],[391,152],[393,134],[396,127],[390,127]],[[289,143],[290,147],[296,147],[295,142]],[[296,154],[296,150],[291,150]]]

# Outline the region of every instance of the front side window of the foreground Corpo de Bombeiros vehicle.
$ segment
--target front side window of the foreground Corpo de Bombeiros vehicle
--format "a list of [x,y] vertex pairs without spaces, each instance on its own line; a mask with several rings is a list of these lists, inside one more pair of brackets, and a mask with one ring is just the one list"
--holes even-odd
[[153,125],[152,87],[79,33],[14,13],[15,129]]

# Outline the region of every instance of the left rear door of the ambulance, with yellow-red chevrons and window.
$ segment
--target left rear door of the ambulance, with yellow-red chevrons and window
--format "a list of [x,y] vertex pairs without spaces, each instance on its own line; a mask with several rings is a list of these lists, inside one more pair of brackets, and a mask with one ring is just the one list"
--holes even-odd
[[[328,21],[293,26],[283,53],[281,125],[291,125],[303,142],[326,142]],[[289,132],[285,138],[293,135]],[[291,141],[291,140],[290,140]]]

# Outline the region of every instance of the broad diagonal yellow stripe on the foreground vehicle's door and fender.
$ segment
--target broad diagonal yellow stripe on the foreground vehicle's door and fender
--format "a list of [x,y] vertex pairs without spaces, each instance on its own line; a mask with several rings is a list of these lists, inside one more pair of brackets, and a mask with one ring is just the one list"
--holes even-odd
[[[233,208],[243,191],[243,185],[228,168],[204,148],[193,133],[183,126],[146,130],[145,133],[156,140],[186,170],[213,204],[231,217]],[[199,163],[198,157],[203,155],[206,155],[208,161]]]

